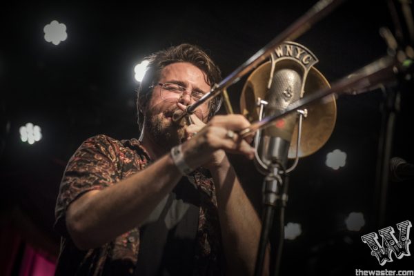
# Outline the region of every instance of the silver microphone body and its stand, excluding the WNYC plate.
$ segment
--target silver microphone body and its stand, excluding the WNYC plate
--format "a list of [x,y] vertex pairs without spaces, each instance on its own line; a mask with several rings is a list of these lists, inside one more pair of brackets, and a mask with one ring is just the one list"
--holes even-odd
[[[267,104],[264,108],[264,116],[283,112],[290,103],[300,98],[303,75],[301,71],[303,70],[294,63],[290,63],[288,68],[275,70],[270,89],[265,97]],[[265,237],[261,244],[262,246],[266,245],[268,240],[266,236],[273,236],[277,239],[277,241],[274,241],[275,246],[273,246],[277,249],[275,253],[270,255],[272,260],[276,259],[275,262],[271,262],[271,270],[277,271],[280,267],[282,244],[284,242],[284,208],[287,200],[287,188],[284,188],[286,181],[279,175],[282,173],[282,176],[285,176],[288,151],[296,119],[296,114],[290,114],[279,119],[273,126],[260,130],[262,133],[259,134],[259,146],[255,157],[257,169],[266,175],[264,179],[264,225],[262,229]],[[282,190],[284,190],[284,193]],[[274,221],[274,217],[276,221]],[[276,227],[270,231],[274,222],[276,222]],[[264,255],[263,252],[258,254],[257,275],[262,275],[260,268],[263,266],[261,262],[263,262]]]

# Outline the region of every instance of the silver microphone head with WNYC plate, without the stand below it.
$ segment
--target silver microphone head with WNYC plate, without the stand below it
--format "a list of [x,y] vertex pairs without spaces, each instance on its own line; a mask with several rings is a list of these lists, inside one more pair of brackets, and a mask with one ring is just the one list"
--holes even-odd
[[[280,114],[302,97],[308,70],[316,62],[316,57],[298,43],[285,42],[275,50],[262,117]],[[286,166],[296,121],[297,114],[291,113],[262,130],[255,159],[260,172],[266,174],[271,163]]]

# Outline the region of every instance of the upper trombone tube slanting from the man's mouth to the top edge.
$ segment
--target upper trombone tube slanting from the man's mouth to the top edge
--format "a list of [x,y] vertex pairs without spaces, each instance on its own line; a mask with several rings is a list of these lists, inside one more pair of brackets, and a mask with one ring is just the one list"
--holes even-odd
[[221,90],[227,88],[231,84],[237,82],[241,77],[246,75],[250,70],[256,68],[262,61],[266,60],[271,52],[286,40],[295,40],[297,37],[306,32],[313,26],[314,23],[324,18],[327,14],[331,13],[340,3],[344,0],[319,0],[308,12],[302,17],[299,17],[295,22],[292,23],[284,32],[275,37],[266,46],[255,53],[250,59],[245,61],[239,68],[233,71],[225,79],[220,81],[219,84],[213,86],[213,88],[206,95],[201,97],[199,101],[187,106],[186,111],[182,112],[177,117],[173,118],[174,121],[180,121],[184,116],[193,114],[195,110],[206,101],[214,99],[220,94]]

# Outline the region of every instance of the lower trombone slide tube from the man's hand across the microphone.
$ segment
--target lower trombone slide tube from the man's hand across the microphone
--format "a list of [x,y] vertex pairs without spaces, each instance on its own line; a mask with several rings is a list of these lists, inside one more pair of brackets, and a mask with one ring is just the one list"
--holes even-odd
[[378,83],[395,80],[396,65],[397,61],[394,57],[386,56],[377,59],[373,63],[364,66],[348,77],[344,77],[343,79],[336,81],[333,83],[331,88],[318,90],[310,96],[304,97],[290,104],[290,106],[288,106],[283,112],[265,117],[261,121],[254,122],[250,125],[249,128],[245,128],[239,132],[239,135],[242,137],[247,137],[259,129],[270,126],[277,119],[280,119],[281,117],[294,112],[298,108],[304,108],[304,106],[308,105],[309,103],[317,101],[318,99],[322,99],[333,93],[339,95],[347,92],[355,95],[361,92],[366,92],[369,88],[377,86]]

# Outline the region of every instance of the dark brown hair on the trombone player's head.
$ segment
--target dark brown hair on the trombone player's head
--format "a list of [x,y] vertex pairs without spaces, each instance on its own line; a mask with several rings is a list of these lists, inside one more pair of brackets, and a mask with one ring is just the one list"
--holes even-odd
[[[220,69],[215,65],[213,60],[208,57],[204,50],[201,50],[198,46],[194,46],[188,43],[181,44],[179,46],[172,46],[166,50],[161,50],[149,55],[145,58],[149,61],[144,78],[137,91],[137,112],[138,112],[138,125],[139,130],[142,131],[144,126],[144,114],[140,107],[146,106],[148,100],[152,95],[153,86],[159,82],[161,70],[171,63],[176,62],[188,62],[199,68],[206,73],[206,82],[213,86],[215,83],[219,83],[221,80]],[[219,110],[222,101],[222,96],[219,95],[209,102],[208,119],[211,119],[215,113]]]

